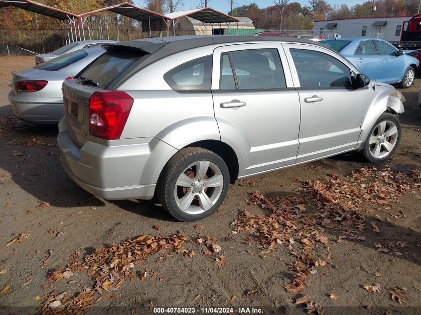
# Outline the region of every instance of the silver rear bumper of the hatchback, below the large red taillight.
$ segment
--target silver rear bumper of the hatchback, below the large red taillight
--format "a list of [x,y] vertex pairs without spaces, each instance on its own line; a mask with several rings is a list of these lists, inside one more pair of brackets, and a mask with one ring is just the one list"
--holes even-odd
[[152,199],[162,163],[176,152],[156,138],[130,139],[131,143],[113,140],[112,146],[88,141],[80,148],[70,138],[64,119],[59,123],[57,140],[69,177],[107,200]]

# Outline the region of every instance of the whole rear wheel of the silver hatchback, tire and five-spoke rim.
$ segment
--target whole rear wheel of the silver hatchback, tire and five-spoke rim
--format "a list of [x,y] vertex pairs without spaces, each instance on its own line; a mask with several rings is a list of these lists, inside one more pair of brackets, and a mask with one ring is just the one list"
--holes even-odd
[[187,148],[166,164],[158,183],[158,197],[180,221],[195,221],[211,215],[225,199],[229,172],[214,152]]

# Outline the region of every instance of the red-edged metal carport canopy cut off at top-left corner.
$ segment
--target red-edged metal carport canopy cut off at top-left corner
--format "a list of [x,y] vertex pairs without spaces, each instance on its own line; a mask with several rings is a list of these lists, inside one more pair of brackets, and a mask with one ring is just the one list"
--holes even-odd
[[77,17],[77,14],[66,12],[31,0],[0,0],[0,8],[6,6],[18,7],[27,11],[57,18],[59,20],[68,20],[70,17]]

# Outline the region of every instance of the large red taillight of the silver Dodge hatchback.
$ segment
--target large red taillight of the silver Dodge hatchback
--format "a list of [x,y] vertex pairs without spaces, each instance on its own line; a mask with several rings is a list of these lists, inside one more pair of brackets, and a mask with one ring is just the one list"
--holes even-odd
[[123,91],[94,92],[89,99],[89,133],[107,140],[119,139],[133,102]]

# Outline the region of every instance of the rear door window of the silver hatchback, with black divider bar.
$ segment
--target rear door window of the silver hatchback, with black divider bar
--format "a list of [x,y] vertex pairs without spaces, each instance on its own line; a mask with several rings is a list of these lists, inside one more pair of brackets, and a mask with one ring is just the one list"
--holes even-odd
[[221,55],[221,90],[286,88],[278,50],[238,50]]

